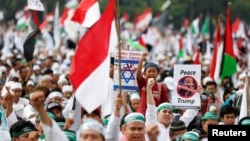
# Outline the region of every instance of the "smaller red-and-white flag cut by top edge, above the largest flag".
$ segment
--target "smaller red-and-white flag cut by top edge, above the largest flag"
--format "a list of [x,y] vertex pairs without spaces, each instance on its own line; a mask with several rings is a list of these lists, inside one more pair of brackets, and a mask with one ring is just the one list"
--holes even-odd
[[100,18],[100,7],[98,0],[82,0],[76,8],[72,21],[83,27],[91,27]]

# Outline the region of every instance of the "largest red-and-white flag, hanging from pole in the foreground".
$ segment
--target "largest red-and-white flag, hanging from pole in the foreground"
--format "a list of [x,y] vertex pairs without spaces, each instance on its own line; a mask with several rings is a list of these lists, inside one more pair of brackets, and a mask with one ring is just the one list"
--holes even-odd
[[109,1],[100,19],[79,41],[72,59],[70,80],[75,96],[89,113],[103,104],[109,93],[110,51],[117,45],[114,3]]

